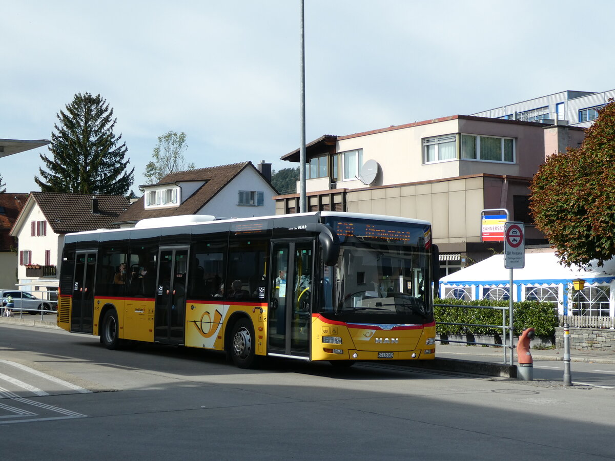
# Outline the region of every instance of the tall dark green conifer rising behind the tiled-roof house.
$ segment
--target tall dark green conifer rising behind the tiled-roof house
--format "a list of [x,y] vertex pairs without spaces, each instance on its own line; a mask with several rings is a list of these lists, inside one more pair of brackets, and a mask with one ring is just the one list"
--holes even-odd
[[125,195],[135,168],[127,172],[126,143],[113,133],[117,119],[100,95],[77,93],[66,112],[57,114],[59,124],[51,135],[52,159],[41,154],[47,171],[34,181],[42,192]]

